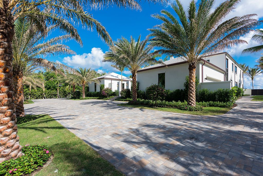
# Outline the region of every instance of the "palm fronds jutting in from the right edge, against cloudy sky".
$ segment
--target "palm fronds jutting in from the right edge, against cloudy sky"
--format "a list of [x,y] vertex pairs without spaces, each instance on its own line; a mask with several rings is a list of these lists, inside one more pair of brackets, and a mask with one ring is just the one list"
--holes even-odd
[[257,53],[257,52],[263,51],[263,30],[262,29],[256,29],[256,32],[252,36],[251,39],[256,41],[256,42],[258,42],[260,45],[244,49],[242,51],[242,54],[245,54],[245,53]]

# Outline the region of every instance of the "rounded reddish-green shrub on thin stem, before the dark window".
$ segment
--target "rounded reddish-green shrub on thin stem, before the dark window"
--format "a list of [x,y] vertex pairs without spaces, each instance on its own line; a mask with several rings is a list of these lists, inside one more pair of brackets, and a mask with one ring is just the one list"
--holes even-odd
[[146,87],[145,93],[149,100],[153,100],[155,102],[155,105],[157,100],[164,100],[165,98],[164,88],[157,84]]

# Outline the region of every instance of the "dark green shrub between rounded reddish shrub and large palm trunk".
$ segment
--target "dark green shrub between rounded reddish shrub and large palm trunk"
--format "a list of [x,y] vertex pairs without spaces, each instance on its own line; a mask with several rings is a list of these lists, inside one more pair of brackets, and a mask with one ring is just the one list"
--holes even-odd
[[173,91],[171,90],[165,90],[165,100],[166,101],[185,101],[186,100],[186,92],[183,89],[175,89]]

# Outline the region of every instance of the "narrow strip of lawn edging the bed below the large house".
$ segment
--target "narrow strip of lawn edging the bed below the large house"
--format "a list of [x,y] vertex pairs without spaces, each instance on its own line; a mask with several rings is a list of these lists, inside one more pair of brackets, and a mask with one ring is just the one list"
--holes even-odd
[[229,111],[231,108],[224,108],[224,107],[204,107],[203,111],[183,111],[177,108],[170,108],[170,107],[149,107],[148,105],[128,105],[128,103],[119,104],[118,106],[125,106],[125,107],[134,107],[140,109],[150,109],[156,111],[166,111],[166,112],[176,112],[176,113],[183,113],[183,114],[192,114],[192,115],[221,115]]

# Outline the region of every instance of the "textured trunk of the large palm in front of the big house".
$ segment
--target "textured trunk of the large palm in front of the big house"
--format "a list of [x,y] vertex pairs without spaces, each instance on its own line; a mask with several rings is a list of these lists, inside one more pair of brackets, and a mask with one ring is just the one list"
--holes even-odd
[[188,88],[188,105],[195,106],[195,69],[196,65],[189,65],[189,88]]

